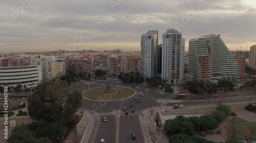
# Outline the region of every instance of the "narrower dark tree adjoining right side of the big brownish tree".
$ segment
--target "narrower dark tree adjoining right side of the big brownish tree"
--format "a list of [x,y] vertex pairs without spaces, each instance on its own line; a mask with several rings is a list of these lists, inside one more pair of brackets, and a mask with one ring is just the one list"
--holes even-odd
[[73,113],[82,105],[82,94],[77,90],[73,94],[68,94],[66,104],[64,105],[65,121],[67,121]]

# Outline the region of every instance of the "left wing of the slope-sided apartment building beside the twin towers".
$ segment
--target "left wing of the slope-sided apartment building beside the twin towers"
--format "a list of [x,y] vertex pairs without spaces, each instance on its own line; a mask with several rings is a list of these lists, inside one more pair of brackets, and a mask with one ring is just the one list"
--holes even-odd
[[208,48],[204,38],[189,40],[189,77],[193,76],[200,80],[209,80],[211,78],[210,49]]

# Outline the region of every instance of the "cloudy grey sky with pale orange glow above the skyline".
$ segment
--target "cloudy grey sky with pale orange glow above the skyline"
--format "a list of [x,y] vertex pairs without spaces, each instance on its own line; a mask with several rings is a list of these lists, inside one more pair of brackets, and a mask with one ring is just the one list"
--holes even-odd
[[174,28],[186,39],[220,34],[229,50],[256,44],[255,0],[2,0],[0,53],[140,51],[141,35]]

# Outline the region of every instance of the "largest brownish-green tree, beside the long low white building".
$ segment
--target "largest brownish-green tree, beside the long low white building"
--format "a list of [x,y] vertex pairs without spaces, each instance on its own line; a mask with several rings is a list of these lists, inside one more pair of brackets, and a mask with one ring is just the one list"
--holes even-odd
[[66,97],[68,82],[63,80],[42,81],[36,91],[28,97],[28,113],[33,120],[59,122],[63,111],[63,98]]

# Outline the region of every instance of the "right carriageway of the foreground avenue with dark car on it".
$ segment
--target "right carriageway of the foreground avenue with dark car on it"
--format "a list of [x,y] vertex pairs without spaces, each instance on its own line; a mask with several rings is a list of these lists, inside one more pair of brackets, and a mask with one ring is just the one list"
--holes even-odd
[[[132,139],[132,132],[136,134],[136,139]],[[143,132],[138,115],[120,116],[119,140],[122,140],[122,143],[144,143]]]

